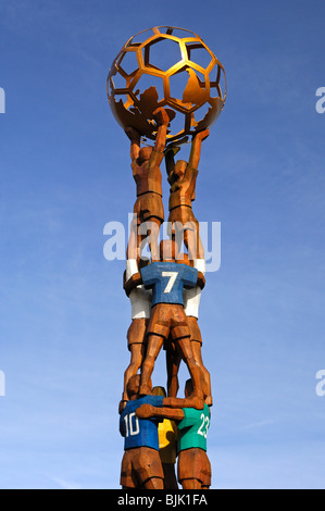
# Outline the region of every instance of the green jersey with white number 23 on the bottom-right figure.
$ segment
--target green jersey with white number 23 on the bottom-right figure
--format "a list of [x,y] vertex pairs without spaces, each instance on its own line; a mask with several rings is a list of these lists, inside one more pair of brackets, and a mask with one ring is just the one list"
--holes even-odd
[[210,426],[210,410],[204,404],[203,410],[184,408],[184,419],[178,424],[177,450],[200,448],[207,451],[207,436]]

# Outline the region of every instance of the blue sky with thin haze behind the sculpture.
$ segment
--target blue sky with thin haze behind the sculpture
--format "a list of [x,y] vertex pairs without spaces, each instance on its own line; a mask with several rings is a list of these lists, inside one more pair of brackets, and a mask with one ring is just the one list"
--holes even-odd
[[195,203],[222,225],[200,308],[213,487],[325,487],[323,10],[0,0],[1,488],[118,488],[130,310],[103,227],[126,224],[135,187],[105,79],[132,35],[165,24],[198,33],[228,79]]

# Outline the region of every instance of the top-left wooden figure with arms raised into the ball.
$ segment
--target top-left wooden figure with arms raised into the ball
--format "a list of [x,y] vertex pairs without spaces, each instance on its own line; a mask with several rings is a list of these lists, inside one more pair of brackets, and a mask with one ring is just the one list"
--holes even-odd
[[[160,164],[163,160],[170,117],[163,108],[154,111],[154,117],[159,127],[153,148],[151,146],[140,148],[140,133],[133,127],[125,129],[130,139],[132,170],[137,185],[137,200],[134,207],[135,216],[127,247],[127,259],[140,257],[141,241],[149,236],[152,260],[159,260],[158,237],[160,226],[164,221]],[[145,223],[148,228],[142,232],[140,226]]]

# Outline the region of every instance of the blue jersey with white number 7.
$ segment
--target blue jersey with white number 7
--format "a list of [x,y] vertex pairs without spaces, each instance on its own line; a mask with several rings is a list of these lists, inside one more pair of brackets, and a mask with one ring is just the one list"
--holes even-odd
[[155,262],[141,269],[146,289],[152,288],[152,307],[157,303],[184,306],[183,288],[197,285],[198,270],[187,264]]

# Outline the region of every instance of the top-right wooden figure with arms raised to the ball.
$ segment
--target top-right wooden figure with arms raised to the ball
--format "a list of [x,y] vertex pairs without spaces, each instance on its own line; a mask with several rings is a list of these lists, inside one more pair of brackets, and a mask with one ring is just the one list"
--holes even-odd
[[209,129],[199,132],[193,136],[188,163],[184,160],[178,160],[175,163],[174,153],[178,150],[175,146],[170,146],[165,151],[166,171],[171,185],[168,204],[170,227],[174,224],[168,234],[174,236],[177,252],[179,252],[184,238],[184,244],[191,260],[204,259],[204,250],[199,233],[199,222],[192,212],[191,202],[196,197],[196,182],[201,154],[201,144],[208,136]]

